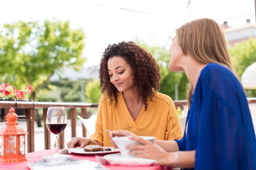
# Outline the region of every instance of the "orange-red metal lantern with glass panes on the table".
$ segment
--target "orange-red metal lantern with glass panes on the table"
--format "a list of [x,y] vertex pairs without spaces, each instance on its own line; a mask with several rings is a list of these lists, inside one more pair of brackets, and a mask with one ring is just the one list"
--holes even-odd
[[16,120],[13,107],[4,117],[5,125],[0,130],[0,163],[27,161],[25,158],[25,132]]

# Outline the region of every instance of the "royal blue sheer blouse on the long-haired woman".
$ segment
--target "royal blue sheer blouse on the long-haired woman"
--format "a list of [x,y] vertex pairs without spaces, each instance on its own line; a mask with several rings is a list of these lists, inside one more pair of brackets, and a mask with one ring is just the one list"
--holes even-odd
[[256,137],[240,82],[210,63],[200,73],[180,150],[196,150],[196,170],[256,170]]

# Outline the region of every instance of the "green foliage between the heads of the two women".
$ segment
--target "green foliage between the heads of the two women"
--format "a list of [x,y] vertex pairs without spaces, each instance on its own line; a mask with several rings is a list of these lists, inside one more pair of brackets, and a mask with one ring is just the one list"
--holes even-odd
[[[171,41],[171,40],[170,40]],[[179,100],[186,99],[186,85],[189,83],[184,72],[171,72],[168,69],[170,61],[169,50],[166,46],[149,46],[144,41],[137,40],[137,44],[146,49],[157,60],[161,70],[160,93],[170,96],[175,99],[175,83],[178,85]]]

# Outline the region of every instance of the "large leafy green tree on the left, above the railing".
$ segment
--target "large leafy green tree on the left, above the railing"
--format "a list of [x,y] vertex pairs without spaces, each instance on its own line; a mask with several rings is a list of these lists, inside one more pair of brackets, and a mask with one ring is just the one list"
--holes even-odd
[[85,34],[69,22],[16,22],[0,29],[0,81],[36,92],[63,66],[82,66]]

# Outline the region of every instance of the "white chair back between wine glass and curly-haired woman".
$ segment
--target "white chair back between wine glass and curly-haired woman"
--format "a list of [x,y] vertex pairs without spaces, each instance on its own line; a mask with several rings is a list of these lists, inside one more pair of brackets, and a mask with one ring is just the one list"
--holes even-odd
[[77,117],[82,121],[83,126],[86,129],[86,137],[90,137],[90,135],[92,135],[95,132],[95,123],[96,123],[97,116],[93,114],[88,119],[84,119],[79,115]]

